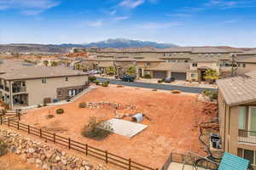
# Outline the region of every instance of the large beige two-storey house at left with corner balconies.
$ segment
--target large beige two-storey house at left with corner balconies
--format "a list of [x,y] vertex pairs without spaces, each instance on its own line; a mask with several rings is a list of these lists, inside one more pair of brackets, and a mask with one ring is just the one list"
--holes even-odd
[[87,74],[62,66],[23,65],[0,75],[0,99],[11,109],[70,99],[87,87]]

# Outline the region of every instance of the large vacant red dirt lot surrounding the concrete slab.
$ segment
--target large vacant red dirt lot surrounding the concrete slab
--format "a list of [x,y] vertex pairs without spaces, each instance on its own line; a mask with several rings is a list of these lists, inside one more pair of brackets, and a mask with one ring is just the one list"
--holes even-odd
[[[112,134],[103,141],[85,139],[81,136],[81,129],[90,116],[110,119],[115,111],[109,107],[80,109],[79,103],[102,101],[136,106],[136,110],[123,109],[118,110],[118,113],[141,112],[152,121],[144,119],[143,124],[147,124],[148,128],[132,139],[118,134]],[[171,152],[185,154],[188,150],[193,150],[204,154],[198,140],[197,125],[199,122],[207,122],[215,114],[214,111],[214,114],[209,114],[209,108],[204,110],[205,105],[207,104],[198,101],[195,95],[111,86],[96,88],[72,104],[30,110],[21,117],[21,122],[72,137],[125,158],[131,157],[132,160],[151,167],[161,167]],[[55,110],[59,108],[63,108],[65,113],[56,115]],[[55,117],[48,119],[49,114]]]

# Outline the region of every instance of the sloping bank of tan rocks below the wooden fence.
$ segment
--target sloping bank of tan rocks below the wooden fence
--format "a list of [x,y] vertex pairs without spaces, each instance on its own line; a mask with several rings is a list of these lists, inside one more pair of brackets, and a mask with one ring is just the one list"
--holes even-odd
[[3,127],[0,127],[0,138],[8,144],[10,152],[42,169],[107,170],[102,164],[95,166],[77,156],[71,156],[63,150],[56,150],[47,144],[36,142]]

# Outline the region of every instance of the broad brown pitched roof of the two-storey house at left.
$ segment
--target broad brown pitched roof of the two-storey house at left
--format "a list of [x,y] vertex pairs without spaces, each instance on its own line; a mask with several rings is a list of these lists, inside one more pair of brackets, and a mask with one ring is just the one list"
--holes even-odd
[[5,80],[20,80],[20,79],[37,79],[46,77],[71,77],[87,75],[82,71],[74,71],[64,66],[52,66],[46,67],[41,65],[33,65],[17,69],[15,71],[9,71],[0,78]]

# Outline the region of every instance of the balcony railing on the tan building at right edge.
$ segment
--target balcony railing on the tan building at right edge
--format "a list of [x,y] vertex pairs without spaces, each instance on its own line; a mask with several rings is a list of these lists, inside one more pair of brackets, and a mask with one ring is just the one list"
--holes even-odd
[[240,129],[238,131],[238,142],[256,144],[256,132]]

